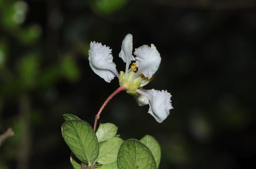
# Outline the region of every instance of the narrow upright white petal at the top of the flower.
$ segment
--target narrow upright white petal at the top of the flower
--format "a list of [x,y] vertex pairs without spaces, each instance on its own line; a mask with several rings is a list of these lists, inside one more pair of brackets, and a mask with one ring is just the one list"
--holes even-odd
[[127,34],[122,42],[121,51],[119,57],[123,59],[124,63],[130,64],[131,61],[135,61],[132,55],[132,35]]

